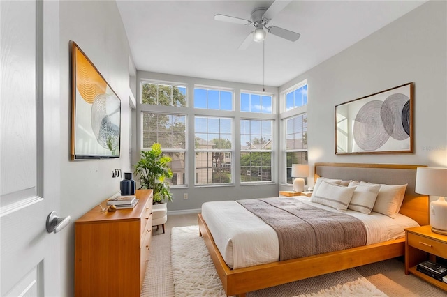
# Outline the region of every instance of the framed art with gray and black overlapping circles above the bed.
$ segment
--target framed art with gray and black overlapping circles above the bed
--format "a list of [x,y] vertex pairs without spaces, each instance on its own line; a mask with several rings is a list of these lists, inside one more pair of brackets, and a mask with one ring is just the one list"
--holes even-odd
[[414,83],[335,107],[335,153],[413,153]]

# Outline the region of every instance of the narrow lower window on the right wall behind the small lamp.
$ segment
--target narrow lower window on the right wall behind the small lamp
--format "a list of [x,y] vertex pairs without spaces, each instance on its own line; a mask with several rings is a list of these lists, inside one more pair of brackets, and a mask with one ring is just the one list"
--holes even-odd
[[286,181],[293,183],[292,164],[307,164],[307,113],[284,121],[286,121]]

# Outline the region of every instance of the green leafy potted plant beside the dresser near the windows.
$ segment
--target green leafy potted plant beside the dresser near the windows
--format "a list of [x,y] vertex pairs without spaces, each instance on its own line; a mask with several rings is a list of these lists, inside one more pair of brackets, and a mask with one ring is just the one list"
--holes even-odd
[[168,166],[171,158],[163,155],[159,143],[152,144],[150,151],[141,151],[140,160],[135,165],[135,176],[139,178],[140,189],[152,189],[154,191],[153,204],[160,204],[166,199],[173,200],[169,191],[167,178],[173,177],[173,172]]

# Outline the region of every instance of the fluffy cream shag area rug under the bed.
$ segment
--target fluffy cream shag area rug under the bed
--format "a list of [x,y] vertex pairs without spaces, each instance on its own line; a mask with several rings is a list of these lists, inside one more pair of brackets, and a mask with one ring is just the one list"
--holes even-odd
[[[175,227],[171,261],[176,297],[226,296],[198,226]],[[247,297],[387,296],[355,269],[330,273],[281,286],[249,292]]]

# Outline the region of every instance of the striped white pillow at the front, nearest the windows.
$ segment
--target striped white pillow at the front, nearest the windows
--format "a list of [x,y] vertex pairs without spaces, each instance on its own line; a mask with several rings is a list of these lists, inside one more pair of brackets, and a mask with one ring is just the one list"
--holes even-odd
[[339,211],[346,211],[356,187],[345,187],[335,183],[321,181],[318,189],[312,193],[310,201],[330,206]]

